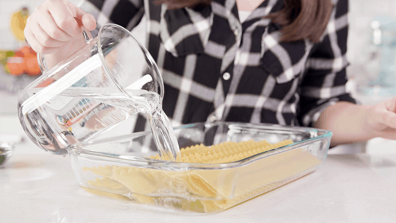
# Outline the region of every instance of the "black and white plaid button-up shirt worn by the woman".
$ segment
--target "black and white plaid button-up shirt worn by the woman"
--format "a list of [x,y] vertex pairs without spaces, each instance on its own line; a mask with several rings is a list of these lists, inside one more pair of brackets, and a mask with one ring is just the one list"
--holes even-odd
[[[345,90],[348,0],[333,4],[317,44],[279,41],[280,27],[262,17],[280,10],[283,0],[265,0],[243,23],[235,0],[177,10],[153,0],[86,0],[80,8],[96,17],[98,28],[116,23],[131,30],[145,14],[148,51],[164,79],[163,109],[172,125],[312,126],[327,106],[355,102]],[[138,120],[135,131],[145,129],[148,122]]]

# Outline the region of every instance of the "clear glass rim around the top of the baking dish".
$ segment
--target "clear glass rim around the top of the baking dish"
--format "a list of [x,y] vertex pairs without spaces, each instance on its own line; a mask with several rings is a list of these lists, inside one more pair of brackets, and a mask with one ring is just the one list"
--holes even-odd
[[[242,160],[238,161],[233,161],[229,163],[181,163],[181,162],[173,162],[173,161],[168,161],[168,160],[154,160],[150,158],[144,158],[140,156],[123,156],[123,155],[117,155],[117,154],[111,154],[111,153],[106,153],[106,152],[97,152],[93,150],[86,150],[84,149],[85,146],[88,145],[94,145],[94,144],[101,144],[103,142],[109,142],[109,141],[115,141],[115,140],[120,140],[124,138],[137,138],[140,136],[148,135],[151,134],[151,131],[143,131],[143,132],[137,132],[137,133],[131,133],[128,135],[122,135],[122,136],[114,136],[114,137],[109,137],[109,138],[103,138],[99,140],[90,140],[88,142],[80,142],[76,144],[70,144],[69,146],[66,147],[67,151],[69,154],[76,154],[78,156],[82,156],[84,158],[88,158],[91,160],[102,160],[102,161],[112,161],[113,163],[120,163],[124,165],[133,165],[134,167],[150,167],[150,168],[160,168],[164,170],[173,170],[173,171],[185,171],[187,169],[201,169],[201,170],[208,170],[208,169],[229,169],[229,168],[235,168],[235,167],[241,167],[248,165],[249,163],[252,163],[257,160],[261,160],[263,158],[269,157],[269,156],[274,156],[276,154],[280,154],[289,150],[293,150],[296,148],[299,148],[301,146],[305,146],[307,144],[310,144],[312,142],[320,141],[324,138],[331,138],[333,133],[331,131],[327,131],[324,129],[315,129],[312,127],[292,127],[291,126],[284,126],[284,125],[276,125],[276,124],[267,124],[267,123],[259,123],[259,124],[252,124],[252,123],[240,123],[240,122],[228,122],[228,121],[216,121],[212,123],[206,123],[206,122],[197,122],[197,123],[190,123],[190,124],[185,124],[181,125],[179,127],[175,127],[173,129],[183,129],[183,128],[188,128],[192,127],[197,124],[203,124],[203,125],[242,125],[242,126],[254,126],[254,127],[262,127],[262,129],[267,128],[272,128],[274,130],[284,130],[284,131],[291,131],[291,130],[297,130],[301,132],[307,132],[307,131],[314,131],[314,132],[320,132],[322,135],[317,135],[312,138],[308,138],[305,140],[301,140],[299,142],[294,142],[292,144],[286,145],[286,146],[281,146],[279,148],[275,148],[272,150],[268,150],[265,152],[261,152],[259,154],[255,154],[253,156],[249,156],[247,158],[244,158]],[[76,148],[78,146],[84,146],[83,148]],[[327,147],[328,150],[329,147]]]

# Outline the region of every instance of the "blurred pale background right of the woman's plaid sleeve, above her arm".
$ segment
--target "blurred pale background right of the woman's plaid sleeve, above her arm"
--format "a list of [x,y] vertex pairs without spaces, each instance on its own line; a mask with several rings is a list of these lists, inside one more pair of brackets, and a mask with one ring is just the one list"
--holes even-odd
[[396,94],[395,18],[395,0],[350,0],[348,88],[362,104]]

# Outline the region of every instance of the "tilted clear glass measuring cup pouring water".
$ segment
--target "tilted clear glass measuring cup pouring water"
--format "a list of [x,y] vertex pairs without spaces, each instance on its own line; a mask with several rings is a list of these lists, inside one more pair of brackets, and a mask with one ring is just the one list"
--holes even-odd
[[104,25],[96,38],[43,75],[19,96],[23,129],[40,148],[67,154],[66,146],[91,140],[138,112],[162,107],[164,84],[148,51],[131,33]]

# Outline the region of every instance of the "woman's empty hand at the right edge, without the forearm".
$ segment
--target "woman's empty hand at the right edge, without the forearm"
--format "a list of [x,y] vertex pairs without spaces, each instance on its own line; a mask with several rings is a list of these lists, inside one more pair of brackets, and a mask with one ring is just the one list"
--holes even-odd
[[373,137],[396,140],[396,97],[366,110],[363,128]]

